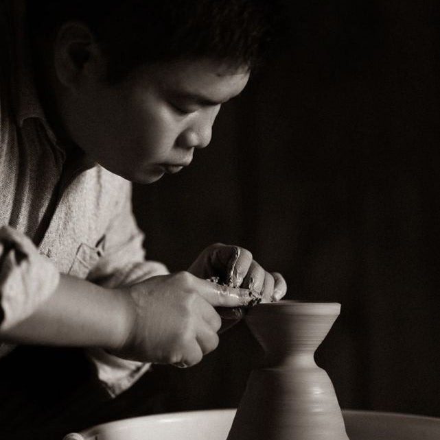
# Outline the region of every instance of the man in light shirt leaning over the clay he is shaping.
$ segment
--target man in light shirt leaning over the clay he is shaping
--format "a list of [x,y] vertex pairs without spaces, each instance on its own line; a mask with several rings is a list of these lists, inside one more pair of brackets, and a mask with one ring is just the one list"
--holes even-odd
[[215,307],[279,300],[286,283],[237,246],[174,274],[145,260],[129,181],[209,144],[259,59],[264,2],[1,0],[0,17],[3,354],[87,349],[113,397],[151,363],[198,363],[218,345]]

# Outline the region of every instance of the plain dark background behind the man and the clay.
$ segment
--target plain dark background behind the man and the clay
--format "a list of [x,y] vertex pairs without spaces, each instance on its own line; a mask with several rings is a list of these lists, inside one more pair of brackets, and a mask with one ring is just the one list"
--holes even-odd
[[[135,186],[148,257],[215,242],[337,301],[316,354],[341,406],[440,416],[440,3],[286,2],[288,38],[192,167]],[[171,410],[236,406],[261,352],[241,323],[171,369]]]

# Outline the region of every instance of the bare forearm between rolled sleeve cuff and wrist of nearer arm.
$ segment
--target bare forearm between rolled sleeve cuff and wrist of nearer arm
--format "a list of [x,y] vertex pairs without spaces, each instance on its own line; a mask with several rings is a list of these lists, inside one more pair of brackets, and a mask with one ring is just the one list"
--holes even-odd
[[61,276],[51,297],[30,317],[0,331],[0,341],[115,350],[127,337],[130,312],[124,291]]

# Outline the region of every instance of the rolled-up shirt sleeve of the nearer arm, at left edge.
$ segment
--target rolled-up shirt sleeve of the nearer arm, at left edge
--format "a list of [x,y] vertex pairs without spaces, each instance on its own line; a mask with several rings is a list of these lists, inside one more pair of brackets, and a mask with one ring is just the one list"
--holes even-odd
[[60,274],[21,232],[0,228],[0,328],[30,316],[54,292]]

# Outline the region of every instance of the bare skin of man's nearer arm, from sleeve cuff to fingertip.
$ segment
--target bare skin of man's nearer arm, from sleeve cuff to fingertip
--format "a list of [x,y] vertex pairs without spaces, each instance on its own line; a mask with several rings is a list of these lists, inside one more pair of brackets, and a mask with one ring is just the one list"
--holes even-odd
[[248,290],[219,286],[189,272],[120,290],[61,276],[56,291],[30,317],[0,330],[0,339],[101,347],[124,358],[189,366],[218,344],[221,322],[213,307],[248,302]]

